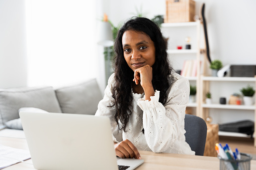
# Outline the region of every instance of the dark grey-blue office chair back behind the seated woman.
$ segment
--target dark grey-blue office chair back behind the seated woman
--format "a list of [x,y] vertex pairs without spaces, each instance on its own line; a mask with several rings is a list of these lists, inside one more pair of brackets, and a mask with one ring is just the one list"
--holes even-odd
[[186,142],[190,145],[191,149],[196,152],[196,155],[203,156],[207,134],[205,121],[198,116],[186,114],[185,130]]

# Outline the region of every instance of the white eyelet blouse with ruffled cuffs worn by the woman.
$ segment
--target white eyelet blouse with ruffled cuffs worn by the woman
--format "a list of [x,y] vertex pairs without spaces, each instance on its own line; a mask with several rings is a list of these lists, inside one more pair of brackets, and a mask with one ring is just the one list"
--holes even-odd
[[[138,150],[148,150],[156,153],[191,154],[189,144],[185,141],[184,118],[185,109],[189,101],[189,81],[174,73],[174,83],[169,89],[168,99],[163,106],[159,101],[159,91],[151,96],[151,101],[144,100],[144,93],[132,93],[132,114],[123,131],[123,140],[130,140]],[[96,116],[108,116],[111,121],[112,132],[117,128],[114,119],[116,107],[113,105],[112,88],[115,83],[114,74],[109,78],[104,98],[98,105]],[[144,134],[142,129],[144,128]],[[116,138],[113,136],[113,141]],[[118,141],[116,141],[118,142]]]

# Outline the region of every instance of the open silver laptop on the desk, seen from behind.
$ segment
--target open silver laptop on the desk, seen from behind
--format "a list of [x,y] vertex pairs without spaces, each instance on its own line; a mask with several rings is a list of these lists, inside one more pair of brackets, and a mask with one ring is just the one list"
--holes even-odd
[[20,112],[36,169],[135,169],[144,160],[117,158],[108,117]]

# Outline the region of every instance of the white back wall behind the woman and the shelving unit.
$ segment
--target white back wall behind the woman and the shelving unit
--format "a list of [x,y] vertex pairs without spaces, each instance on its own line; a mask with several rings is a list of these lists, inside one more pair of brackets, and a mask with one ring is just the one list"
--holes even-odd
[[[109,19],[117,26],[128,18],[135,16],[135,7],[140,9],[145,17],[152,19],[155,15],[165,15],[165,0],[108,0]],[[254,0],[196,0],[196,15],[199,15],[202,3],[205,3],[205,18],[210,46],[211,59],[219,59],[223,65],[227,64],[251,64],[256,65],[256,1]],[[175,32],[176,34],[177,32]],[[180,35],[173,35],[170,39],[180,41]],[[186,36],[186,35],[184,35]],[[203,40],[203,39],[202,39]],[[182,38],[182,41],[184,39]],[[193,40],[192,40],[193,41]],[[170,49],[175,49],[176,44],[170,43]],[[192,46],[193,48],[193,46]],[[169,56],[173,67],[180,68],[176,56]],[[195,83],[195,82],[191,82]],[[239,89],[246,86],[242,83],[211,83],[213,102],[218,103],[219,97],[227,100],[232,93],[239,93]],[[254,83],[250,83],[254,85]],[[224,123],[241,119],[254,120],[254,111],[210,109],[213,123]]]

